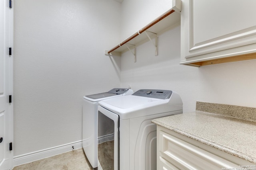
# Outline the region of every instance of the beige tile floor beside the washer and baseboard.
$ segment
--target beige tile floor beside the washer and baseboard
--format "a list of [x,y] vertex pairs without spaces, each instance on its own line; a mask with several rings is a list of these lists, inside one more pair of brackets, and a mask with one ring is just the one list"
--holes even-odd
[[92,170],[82,148],[27,164],[13,170]]

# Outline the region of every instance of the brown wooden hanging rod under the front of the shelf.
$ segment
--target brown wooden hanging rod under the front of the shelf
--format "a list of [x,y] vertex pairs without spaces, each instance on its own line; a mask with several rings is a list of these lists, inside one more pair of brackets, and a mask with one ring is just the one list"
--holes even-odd
[[165,12],[164,14],[162,14],[160,17],[156,18],[156,20],[150,22],[148,25],[146,25],[145,27],[143,27],[142,29],[140,29],[138,32],[134,33],[133,35],[131,35],[130,37],[128,37],[127,39],[125,39],[123,42],[121,42],[120,44],[118,44],[116,47],[112,48],[110,51],[108,51],[108,54],[110,54],[112,51],[118,49],[119,47],[121,47],[122,45],[124,45],[125,43],[128,43],[130,40],[134,39],[135,37],[137,37],[138,35],[140,35],[141,33],[143,33],[144,31],[146,31],[147,29],[149,29],[150,27],[152,27],[153,25],[155,25],[156,23],[158,23],[159,21],[161,21],[162,19],[166,18],[167,16],[169,16],[170,14],[172,14],[173,12],[175,12],[175,10],[170,9],[167,12]]

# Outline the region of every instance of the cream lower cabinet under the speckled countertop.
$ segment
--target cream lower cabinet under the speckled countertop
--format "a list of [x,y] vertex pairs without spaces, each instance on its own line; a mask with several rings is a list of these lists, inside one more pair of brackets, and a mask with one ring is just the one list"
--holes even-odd
[[160,126],[157,151],[158,170],[224,170],[255,165]]

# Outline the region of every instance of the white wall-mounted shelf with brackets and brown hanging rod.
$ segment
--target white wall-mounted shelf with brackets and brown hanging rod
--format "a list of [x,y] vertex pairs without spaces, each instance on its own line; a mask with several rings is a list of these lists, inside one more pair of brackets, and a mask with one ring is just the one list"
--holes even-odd
[[[134,33],[124,41],[120,42],[118,45],[110,50],[105,51],[105,55],[111,55],[112,52],[122,53],[124,51],[130,50],[134,55],[134,62],[136,62],[136,45],[149,39],[152,41],[156,50],[155,55],[157,55],[157,36],[158,33],[168,29],[172,25],[180,22],[180,11],[181,11],[181,0],[172,0],[172,8],[156,18],[154,21],[150,22],[148,25],[140,29],[138,32]],[[152,38],[155,38],[153,41]]]

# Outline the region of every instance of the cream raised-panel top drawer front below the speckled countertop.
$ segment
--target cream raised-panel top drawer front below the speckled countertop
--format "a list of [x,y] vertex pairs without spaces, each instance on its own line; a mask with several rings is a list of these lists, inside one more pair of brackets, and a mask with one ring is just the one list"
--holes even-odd
[[[159,131],[159,151],[170,164],[181,170],[240,168],[238,164]],[[159,161],[160,162],[160,161]]]

